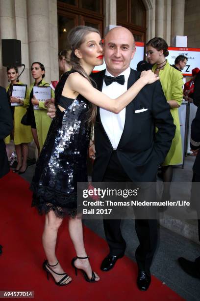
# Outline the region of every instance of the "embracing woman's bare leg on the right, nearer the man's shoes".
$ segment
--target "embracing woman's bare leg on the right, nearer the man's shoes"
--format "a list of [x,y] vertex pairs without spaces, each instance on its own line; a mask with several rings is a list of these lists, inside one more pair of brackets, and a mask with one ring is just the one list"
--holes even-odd
[[[85,251],[84,241],[83,241],[83,227],[82,227],[82,220],[79,217],[75,219],[69,220],[69,233],[70,237],[74,243],[76,255],[78,257],[87,257],[87,253]],[[89,279],[92,278],[92,268],[90,266],[89,259],[76,259],[75,267],[77,269],[82,269],[86,272]],[[96,281],[100,280],[100,277],[97,273]]]

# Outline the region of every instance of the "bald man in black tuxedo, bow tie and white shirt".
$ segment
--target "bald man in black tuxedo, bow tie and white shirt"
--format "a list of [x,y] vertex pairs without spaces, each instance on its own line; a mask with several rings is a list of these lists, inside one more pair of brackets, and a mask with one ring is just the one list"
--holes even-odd
[[[135,51],[134,37],[126,28],[116,27],[107,33],[106,70],[92,74],[99,90],[116,98],[134,84],[140,77],[140,72],[129,67]],[[48,111],[55,111],[52,105]],[[54,113],[48,115],[54,117]],[[158,165],[164,161],[174,135],[175,125],[159,81],[145,86],[119,114],[98,108],[92,181],[155,181]],[[124,256],[126,244],[120,224],[121,220],[103,221],[110,252],[101,264],[102,271],[111,270]],[[140,241],[136,250],[137,283],[140,290],[146,291],[157,245],[157,221],[135,220],[135,228]]]

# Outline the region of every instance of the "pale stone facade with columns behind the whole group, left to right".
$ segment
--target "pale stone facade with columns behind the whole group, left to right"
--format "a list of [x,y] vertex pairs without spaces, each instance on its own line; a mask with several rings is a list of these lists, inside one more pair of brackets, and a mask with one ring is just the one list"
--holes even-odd
[[[200,47],[200,0],[143,0],[147,11],[146,40],[163,37],[168,45],[175,35],[187,35],[189,47]],[[116,0],[104,0],[104,26],[116,25]],[[21,80],[32,82],[30,65],[41,61],[46,80],[58,79],[58,34],[56,0],[0,0],[1,39],[22,42],[25,71]],[[0,45],[0,85],[7,86]]]

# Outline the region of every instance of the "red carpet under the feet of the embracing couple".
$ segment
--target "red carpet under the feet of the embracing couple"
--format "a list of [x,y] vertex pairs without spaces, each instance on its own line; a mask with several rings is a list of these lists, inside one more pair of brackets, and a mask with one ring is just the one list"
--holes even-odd
[[127,257],[120,259],[114,270],[100,271],[102,258],[108,253],[106,242],[84,227],[85,245],[99,283],[88,283],[71,267],[75,250],[70,241],[67,221],[59,231],[57,256],[63,269],[73,277],[69,286],[56,286],[42,270],[45,259],[41,237],[44,216],[31,208],[29,183],[9,173],[0,180],[0,290],[34,291],[36,301],[167,301],[183,300],[155,277],[147,292],[136,286],[137,267]]

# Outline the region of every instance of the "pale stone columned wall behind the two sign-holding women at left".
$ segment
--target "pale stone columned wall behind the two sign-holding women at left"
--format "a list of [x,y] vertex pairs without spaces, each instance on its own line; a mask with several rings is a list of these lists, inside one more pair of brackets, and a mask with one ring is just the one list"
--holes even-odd
[[[45,65],[47,82],[58,79],[58,35],[56,0],[0,0],[1,39],[21,40],[25,71],[20,80],[33,82],[30,66],[33,61]],[[21,72],[22,68],[19,68]],[[2,66],[0,45],[0,85],[8,85],[6,68]]]

